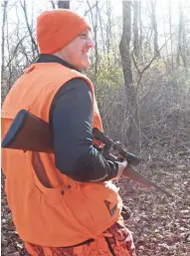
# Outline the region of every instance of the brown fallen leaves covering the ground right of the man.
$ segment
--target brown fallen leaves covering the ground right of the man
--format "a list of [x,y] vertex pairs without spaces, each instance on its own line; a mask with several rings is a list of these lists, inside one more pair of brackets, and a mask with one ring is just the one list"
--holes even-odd
[[[133,213],[127,225],[133,231],[137,256],[190,255],[190,173],[167,169],[163,175],[164,171],[162,185],[179,197],[119,181],[121,197]],[[159,169],[153,177],[160,182]]]

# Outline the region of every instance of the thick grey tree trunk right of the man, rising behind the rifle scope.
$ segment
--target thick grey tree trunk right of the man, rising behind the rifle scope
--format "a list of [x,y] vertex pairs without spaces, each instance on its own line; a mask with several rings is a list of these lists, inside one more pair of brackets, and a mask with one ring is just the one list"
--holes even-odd
[[134,149],[139,140],[136,91],[132,81],[131,59],[129,52],[131,38],[131,1],[122,1],[122,36],[119,44],[121,56],[126,104],[128,110],[128,127],[125,141],[130,149]]

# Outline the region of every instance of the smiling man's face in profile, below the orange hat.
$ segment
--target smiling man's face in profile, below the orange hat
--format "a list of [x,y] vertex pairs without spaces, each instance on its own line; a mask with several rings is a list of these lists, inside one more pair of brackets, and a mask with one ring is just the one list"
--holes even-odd
[[94,48],[94,42],[90,38],[90,31],[83,31],[77,38],[61,50],[65,61],[79,70],[88,69],[91,66],[90,50]]

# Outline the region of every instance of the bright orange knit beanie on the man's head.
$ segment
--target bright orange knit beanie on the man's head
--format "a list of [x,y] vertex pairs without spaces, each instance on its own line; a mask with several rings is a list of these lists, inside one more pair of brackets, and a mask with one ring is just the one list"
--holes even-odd
[[52,54],[59,51],[86,29],[91,29],[88,22],[71,10],[43,12],[37,18],[37,43],[40,53]]

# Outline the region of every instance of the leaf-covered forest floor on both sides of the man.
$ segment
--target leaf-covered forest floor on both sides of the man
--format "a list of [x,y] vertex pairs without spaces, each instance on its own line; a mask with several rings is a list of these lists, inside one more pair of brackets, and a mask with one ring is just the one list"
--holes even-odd
[[[154,164],[152,169],[143,171],[143,174],[172,191],[176,195],[174,198],[126,178],[118,181],[120,196],[132,211],[126,225],[133,233],[137,256],[190,255],[189,155],[178,156],[172,166]],[[3,191],[3,178],[1,187],[1,255],[29,256],[13,226]]]

